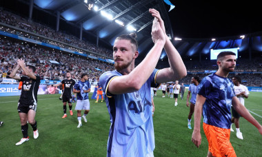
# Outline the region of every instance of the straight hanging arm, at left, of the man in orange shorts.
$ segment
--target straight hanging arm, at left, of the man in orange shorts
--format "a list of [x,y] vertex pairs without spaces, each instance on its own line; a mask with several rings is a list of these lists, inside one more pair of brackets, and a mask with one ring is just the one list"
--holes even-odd
[[192,142],[196,147],[201,145],[201,134],[200,134],[200,122],[203,112],[203,104],[205,103],[205,97],[202,95],[196,95],[196,105],[194,106],[194,131],[192,134]]

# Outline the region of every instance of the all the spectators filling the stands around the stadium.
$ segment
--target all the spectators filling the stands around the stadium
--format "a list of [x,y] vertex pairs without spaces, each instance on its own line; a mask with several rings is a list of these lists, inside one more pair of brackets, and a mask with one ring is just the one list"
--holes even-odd
[[[52,45],[57,45],[61,48],[68,48],[69,50],[77,52],[83,52],[78,49],[83,48],[94,52],[94,54],[92,54],[93,56],[96,56],[96,54],[102,54],[112,58],[112,50],[97,47],[97,45],[88,41],[80,41],[72,34],[65,34],[60,31],[56,32],[47,25],[28,21],[22,17],[19,17],[17,14],[12,14],[1,8],[0,22],[35,34],[46,36],[60,42],[49,41],[48,39],[41,38],[41,36],[34,36],[32,34],[29,35],[25,32],[1,26],[0,30],[6,32],[17,34],[19,36],[26,36],[30,39],[50,43]],[[63,44],[61,42],[67,44]],[[1,37],[0,44],[0,78],[8,78],[8,75],[15,65],[15,61],[18,58],[25,59],[28,65],[35,65],[37,67],[37,73],[41,79],[62,80],[65,79],[66,72],[70,71],[72,72],[74,79],[80,79],[81,73],[86,72],[90,76],[90,81],[96,81],[103,72],[114,69],[112,64],[103,63],[94,59],[87,59],[81,56],[68,54],[66,52],[55,52],[50,48],[40,48],[38,45],[33,45],[32,43],[26,43],[23,41],[10,41],[9,39]],[[98,57],[103,58],[101,56]],[[57,61],[59,64],[50,63],[50,60]],[[262,72],[261,61],[262,60],[260,58],[252,59],[252,61],[249,61],[248,59],[238,59],[235,72]],[[192,76],[197,75],[202,79],[204,76],[208,75],[204,74],[206,70],[214,71],[218,68],[215,61],[185,61],[185,66],[187,67],[189,74],[180,80],[181,83],[185,84],[190,84]],[[165,65],[158,64],[158,68],[163,67],[165,67]],[[203,74],[199,74],[199,72],[203,72]],[[232,76],[234,76],[234,74],[230,74],[229,78],[232,78]],[[262,87],[261,74],[239,74],[239,76],[241,76],[244,85]]]

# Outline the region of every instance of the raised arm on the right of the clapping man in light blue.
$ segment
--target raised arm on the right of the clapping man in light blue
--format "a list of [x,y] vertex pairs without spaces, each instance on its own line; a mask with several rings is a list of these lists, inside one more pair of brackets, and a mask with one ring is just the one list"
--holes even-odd
[[[152,17],[156,17],[162,30],[165,32],[165,25],[161,16],[157,10],[150,9],[149,12]],[[157,83],[163,83],[173,80],[179,80],[187,75],[185,64],[183,63],[181,56],[174,45],[170,41],[167,34],[165,34],[165,52],[168,55],[168,63],[170,67],[159,70],[157,74]]]

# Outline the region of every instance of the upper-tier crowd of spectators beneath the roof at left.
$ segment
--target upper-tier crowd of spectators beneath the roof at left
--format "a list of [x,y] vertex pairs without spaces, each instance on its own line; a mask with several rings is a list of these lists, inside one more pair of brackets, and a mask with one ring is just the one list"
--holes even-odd
[[[79,50],[78,48],[83,48],[85,50],[88,50],[90,52],[94,52],[94,56],[98,56],[95,54],[102,54],[103,56],[108,56],[112,59],[112,50],[108,50],[106,48],[97,47],[96,44],[90,43],[89,41],[83,41],[79,40],[77,36],[74,36],[72,34],[66,34],[61,31],[56,32],[56,30],[48,27],[47,25],[43,25],[41,23],[28,21],[22,17],[19,17],[17,14],[12,14],[6,10],[3,10],[0,8],[0,22],[6,23],[8,25],[12,25],[17,28],[21,28],[22,30],[26,30],[28,32],[33,32],[35,34],[39,34],[42,36],[46,36],[50,39],[54,39],[59,42],[68,43],[70,45],[65,45],[63,43],[59,43],[56,41],[49,41],[47,39],[43,39],[39,36],[32,36],[29,34],[26,34],[25,32],[20,32],[18,30],[12,30],[9,28],[1,27],[1,30],[9,31],[13,34],[17,34],[19,36],[25,36],[31,39],[37,39],[38,41],[42,41],[45,43],[51,43],[52,45],[58,45],[62,48],[68,48],[70,50],[74,50],[77,52],[83,52],[83,50]],[[99,56],[101,57],[101,56]]]

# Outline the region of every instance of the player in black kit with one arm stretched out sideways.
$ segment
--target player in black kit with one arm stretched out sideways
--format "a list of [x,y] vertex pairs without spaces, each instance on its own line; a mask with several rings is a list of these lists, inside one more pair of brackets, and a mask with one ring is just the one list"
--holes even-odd
[[71,78],[71,73],[67,72],[66,73],[66,79],[61,81],[61,83],[55,84],[55,85],[50,85],[57,87],[59,85],[64,85],[65,89],[63,90],[63,117],[66,118],[66,103],[68,103],[69,110],[70,110],[70,115],[73,115],[72,112],[72,92],[73,92],[73,87],[76,82]]

